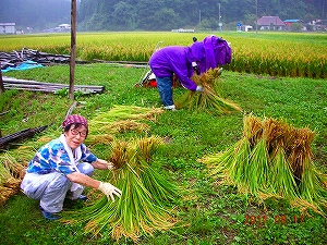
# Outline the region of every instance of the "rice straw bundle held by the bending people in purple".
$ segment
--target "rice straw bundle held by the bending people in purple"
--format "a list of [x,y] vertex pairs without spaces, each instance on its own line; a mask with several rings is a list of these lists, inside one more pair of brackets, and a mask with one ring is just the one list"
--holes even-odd
[[203,87],[203,91],[186,91],[175,101],[178,109],[186,108],[189,110],[199,109],[214,113],[231,113],[241,111],[241,108],[221,98],[215,90],[215,79],[221,74],[221,69],[209,69],[201,75],[193,75],[193,79],[198,86]]

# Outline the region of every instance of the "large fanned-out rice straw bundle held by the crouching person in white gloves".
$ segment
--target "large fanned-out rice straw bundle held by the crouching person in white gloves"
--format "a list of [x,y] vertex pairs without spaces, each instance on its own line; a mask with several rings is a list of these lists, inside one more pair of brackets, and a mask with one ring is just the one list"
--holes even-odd
[[65,211],[62,221],[86,222],[85,231],[94,235],[109,232],[114,240],[125,236],[134,242],[174,225],[170,212],[178,188],[149,163],[159,144],[158,137],[112,143],[109,160],[117,169],[105,181],[119,187],[122,196],[114,203],[104,196],[82,210]]

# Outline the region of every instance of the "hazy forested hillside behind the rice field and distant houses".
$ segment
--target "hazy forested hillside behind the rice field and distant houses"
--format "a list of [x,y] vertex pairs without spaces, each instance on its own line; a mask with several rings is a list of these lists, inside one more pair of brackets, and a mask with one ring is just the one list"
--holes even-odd
[[[254,25],[257,16],[327,19],[327,0],[77,0],[77,28],[94,30],[218,29]],[[220,10],[220,11],[219,11]],[[70,23],[71,0],[1,0],[0,22],[36,30]]]

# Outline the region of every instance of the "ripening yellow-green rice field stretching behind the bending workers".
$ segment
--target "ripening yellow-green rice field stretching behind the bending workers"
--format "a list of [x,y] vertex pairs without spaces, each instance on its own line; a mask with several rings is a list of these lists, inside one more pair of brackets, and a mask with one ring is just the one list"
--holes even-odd
[[[234,72],[290,77],[327,77],[327,35],[324,33],[77,33],[78,60],[147,62],[159,47],[189,46],[195,36],[220,36],[231,42]],[[0,51],[35,49],[70,53],[70,34],[1,36]]]

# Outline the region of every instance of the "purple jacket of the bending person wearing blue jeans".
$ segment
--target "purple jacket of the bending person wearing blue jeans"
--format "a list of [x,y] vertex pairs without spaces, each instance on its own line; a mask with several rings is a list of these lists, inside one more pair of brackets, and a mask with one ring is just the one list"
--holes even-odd
[[157,77],[178,76],[181,84],[195,90],[196,84],[190,79],[193,75],[192,62],[201,62],[205,57],[205,48],[202,41],[196,41],[190,47],[168,46],[153,53],[149,66]]

